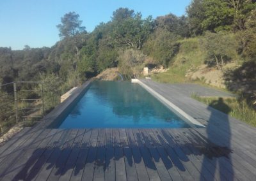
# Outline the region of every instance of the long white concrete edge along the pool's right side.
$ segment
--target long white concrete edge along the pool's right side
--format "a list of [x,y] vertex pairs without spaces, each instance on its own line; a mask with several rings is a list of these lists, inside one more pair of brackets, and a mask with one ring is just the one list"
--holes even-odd
[[158,94],[156,91],[154,91],[153,89],[151,89],[150,87],[148,87],[145,83],[141,82],[138,79],[133,80],[132,83],[139,83],[141,85],[141,87],[143,87],[144,89],[146,89],[148,92],[150,92],[150,94],[152,94],[155,98],[159,99],[159,101],[161,101],[162,103],[164,103],[164,105],[168,106],[170,108],[170,110],[179,113],[182,117],[184,117],[186,120],[188,120],[189,122],[191,122],[192,124],[189,124],[191,127],[195,127],[196,126],[201,126],[201,127],[205,127],[203,124],[201,124],[200,122],[198,122],[197,120],[195,120],[193,117],[191,117],[190,115],[188,115],[186,112],[184,112],[183,110],[181,110],[178,106],[174,105],[172,102],[168,101],[166,98],[164,98],[163,96],[161,96],[160,94]]

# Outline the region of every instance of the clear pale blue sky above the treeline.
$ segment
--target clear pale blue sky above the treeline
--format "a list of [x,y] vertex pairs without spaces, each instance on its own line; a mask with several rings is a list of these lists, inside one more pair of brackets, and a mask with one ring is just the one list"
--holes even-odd
[[122,7],[141,12],[143,18],[173,13],[184,15],[191,0],[0,0],[0,47],[22,50],[51,47],[59,41],[56,25],[61,17],[75,11],[86,31],[111,20],[113,11]]

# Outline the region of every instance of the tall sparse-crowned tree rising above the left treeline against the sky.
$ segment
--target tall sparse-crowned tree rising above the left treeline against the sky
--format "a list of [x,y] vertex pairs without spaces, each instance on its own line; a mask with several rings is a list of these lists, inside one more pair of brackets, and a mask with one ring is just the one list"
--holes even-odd
[[57,27],[60,31],[60,38],[69,38],[72,37],[75,40],[76,53],[78,52],[78,40],[77,35],[79,33],[86,33],[85,27],[81,26],[82,20],[79,20],[79,15],[74,11],[66,13],[64,17],[61,17],[61,23]]

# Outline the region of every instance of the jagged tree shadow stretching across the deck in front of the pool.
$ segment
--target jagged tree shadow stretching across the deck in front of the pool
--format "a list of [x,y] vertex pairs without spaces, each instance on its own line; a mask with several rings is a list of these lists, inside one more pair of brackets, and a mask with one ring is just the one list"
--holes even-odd
[[[209,123],[209,126],[211,126],[211,123]],[[134,142],[134,139],[133,141],[128,139],[129,145],[126,146],[122,141],[115,143],[116,140],[112,140],[112,145],[105,147],[92,147],[89,143],[84,143],[83,145],[70,145],[65,148],[36,148],[19,171],[10,169],[4,172],[1,178],[4,178],[6,174],[13,173],[13,180],[33,180],[37,177],[40,178],[42,175],[48,178],[50,174],[58,179],[63,177],[81,180],[85,177],[93,178],[93,174],[103,174],[103,177],[105,174],[105,177],[108,175],[108,177],[115,180],[117,179],[115,178],[115,171],[122,170],[122,164],[123,166],[125,164],[124,171],[125,167],[126,170],[128,168],[135,170],[136,168],[137,171],[140,168],[145,173],[148,170],[157,173],[157,170],[160,169],[157,166],[163,164],[168,170],[170,178],[175,177],[172,175],[174,173],[174,175],[178,175],[177,177],[186,180],[186,178],[192,178],[191,175],[186,175],[190,174],[186,163],[193,162],[191,156],[204,157],[204,159],[201,159],[201,172],[204,173],[205,168],[207,168],[205,165],[210,163],[212,164],[211,173],[214,174],[217,170],[214,164],[218,162],[218,159],[225,157],[229,160],[230,153],[232,153],[229,148],[230,145],[227,144],[223,147],[223,145],[213,143],[210,134],[207,135],[207,138],[196,129],[186,129],[187,131],[184,132],[175,132],[175,129],[156,129],[154,132],[156,136],[148,134],[147,131],[137,130],[136,133],[134,132],[136,142]],[[152,130],[148,129],[148,131]],[[231,161],[229,162],[231,163]],[[230,169],[232,170],[232,168]],[[208,172],[206,171],[205,175]],[[109,173],[112,174],[109,176]],[[138,177],[135,173],[132,176],[134,178]],[[205,175],[202,175],[201,179],[209,180],[209,176]],[[131,175],[125,177],[131,177]],[[145,177],[148,177],[147,174]],[[211,178],[214,178],[214,175]],[[147,180],[147,178],[145,179]]]

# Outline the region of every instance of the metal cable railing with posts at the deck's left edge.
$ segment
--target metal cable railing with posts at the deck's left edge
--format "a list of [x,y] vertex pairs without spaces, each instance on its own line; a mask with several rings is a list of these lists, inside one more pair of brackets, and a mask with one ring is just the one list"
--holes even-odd
[[[40,110],[41,113],[38,115]],[[4,120],[4,124],[8,124],[8,119],[10,122],[14,121],[13,116],[16,124],[24,119],[36,118],[42,119],[43,126],[45,126],[43,82],[10,82],[0,85],[0,121],[3,122]],[[33,120],[33,122],[37,121]],[[1,122],[0,129],[2,132]]]

